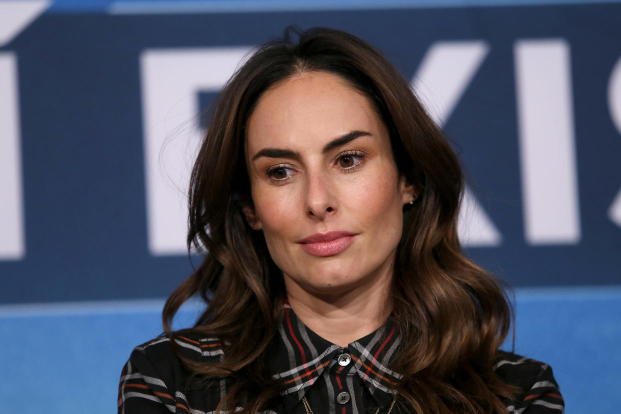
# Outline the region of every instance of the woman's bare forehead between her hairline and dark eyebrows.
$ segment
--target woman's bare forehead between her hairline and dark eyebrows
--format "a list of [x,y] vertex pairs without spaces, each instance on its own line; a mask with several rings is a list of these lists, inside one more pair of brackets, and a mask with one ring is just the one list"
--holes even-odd
[[268,89],[247,125],[248,151],[323,146],[352,130],[380,134],[384,125],[369,99],[334,74],[304,73]]

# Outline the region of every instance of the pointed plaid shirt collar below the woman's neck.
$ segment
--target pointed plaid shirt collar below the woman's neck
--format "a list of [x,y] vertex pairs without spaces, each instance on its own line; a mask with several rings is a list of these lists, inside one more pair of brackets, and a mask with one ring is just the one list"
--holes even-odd
[[293,410],[311,385],[321,378],[324,369],[337,364],[336,357],[342,353],[350,354],[353,369],[378,407],[388,407],[394,397],[394,386],[402,378],[387,367],[401,342],[395,330],[396,323],[388,318],[378,330],[341,348],[307,328],[291,306],[285,304],[283,323],[274,338],[274,352],[268,358],[268,366],[271,372],[276,372],[273,378],[286,384],[281,393],[286,412]]

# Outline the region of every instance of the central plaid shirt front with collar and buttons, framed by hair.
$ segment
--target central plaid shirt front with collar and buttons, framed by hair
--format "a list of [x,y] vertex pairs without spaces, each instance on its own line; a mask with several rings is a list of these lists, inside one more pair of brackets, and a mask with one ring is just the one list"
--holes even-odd
[[[278,373],[274,379],[283,380],[288,389],[276,412],[305,414],[308,407],[315,414],[364,414],[391,405],[388,389],[398,374],[387,371],[385,355],[399,342],[391,320],[365,338],[339,347],[309,330],[286,305],[278,338],[280,351],[273,354],[270,365]],[[284,361],[289,364],[283,366]]]

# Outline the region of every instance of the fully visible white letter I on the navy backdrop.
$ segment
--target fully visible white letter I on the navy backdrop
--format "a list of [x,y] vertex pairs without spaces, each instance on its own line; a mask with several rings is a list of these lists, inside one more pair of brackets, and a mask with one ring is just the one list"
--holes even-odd
[[531,245],[580,240],[569,45],[563,39],[514,46],[524,232]]

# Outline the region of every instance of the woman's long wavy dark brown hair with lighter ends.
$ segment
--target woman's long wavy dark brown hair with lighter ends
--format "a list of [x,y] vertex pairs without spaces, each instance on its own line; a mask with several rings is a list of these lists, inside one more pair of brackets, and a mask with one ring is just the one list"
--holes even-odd
[[[255,390],[243,413],[255,413],[282,389],[266,372],[265,355],[283,317],[282,272],[261,232],[242,212],[252,205],[244,155],[245,125],[274,84],[309,71],[348,81],[373,102],[389,130],[394,159],[420,196],[404,208],[392,289],[403,346],[391,369],[403,375],[397,395],[419,413],[501,413],[515,392],[494,374],[512,321],[504,290],[461,253],[456,231],[463,194],[460,163],[397,70],[359,38],[311,29],[266,43],[243,63],[219,95],[191,174],[188,248],[202,264],[168,298],[168,335],[179,307],[193,295],[208,304],[191,331],[225,345],[217,364],[185,361],[207,379],[233,387],[219,409]],[[174,341],[171,341],[174,344]]]

